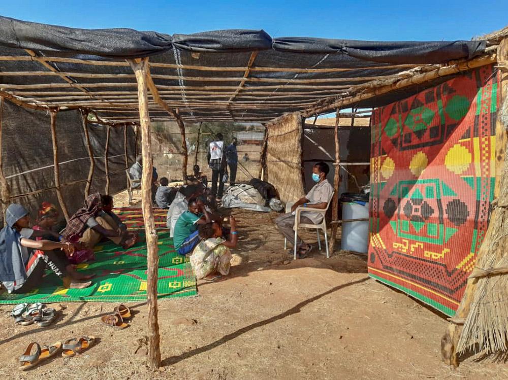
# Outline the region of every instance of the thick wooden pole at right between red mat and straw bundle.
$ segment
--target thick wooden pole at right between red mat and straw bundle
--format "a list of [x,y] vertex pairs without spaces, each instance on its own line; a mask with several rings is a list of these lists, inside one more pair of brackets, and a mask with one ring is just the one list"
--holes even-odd
[[[497,50],[497,59],[499,61],[508,60],[508,38],[501,41]],[[500,96],[501,107],[506,99],[508,91],[508,72],[500,70],[501,80],[498,89],[498,96]],[[506,183],[508,180],[508,160],[506,160],[506,126],[501,121],[502,108],[498,110],[496,121],[496,183],[494,186],[494,198],[498,199],[503,194],[501,193],[501,183]],[[496,249],[496,245],[492,244],[492,236],[495,230],[500,227],[499,209],[494,208],[490,216],[489,227],[485,233],[483,243],[478,250],[476,262],[481,262],[482,257],[489,254],[490,250]],[[466,290],[460,305],[455,313],[453,321],[465,321],[471,309],[471,303],[474,298],[475,291],[477,290],[478,278],[469,278],[466,285]],[[462,322],[463,323],[463,322]],[[458,360],[458,343],[462,334],[463,324],[451,322],[448,324],[447,330],[441,338],[441,356],[445,364],[457,367]],[[480,348],[482,349],[482,348]]]

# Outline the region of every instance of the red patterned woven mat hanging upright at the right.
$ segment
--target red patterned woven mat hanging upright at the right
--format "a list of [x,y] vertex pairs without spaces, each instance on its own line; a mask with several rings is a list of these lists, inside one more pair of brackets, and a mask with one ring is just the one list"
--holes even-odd
[[495,184],[493,66],[372,115],[369,274],[453,316]]

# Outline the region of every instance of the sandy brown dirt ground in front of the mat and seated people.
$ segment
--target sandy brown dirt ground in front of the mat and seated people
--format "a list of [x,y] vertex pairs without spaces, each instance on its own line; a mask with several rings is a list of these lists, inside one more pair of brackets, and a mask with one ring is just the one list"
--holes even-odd
[[[125,196],[117,197],[120,205]],[[146,366],[147,308],[131,304],[131,326],[114,330],[100,316],[112,303],[54,304],[48,328],[16,326],[0,306],[0,376],[5,379],[505,379],[508,368],[474,357],[444,366],[444,316],[367,277],[366,259],[337,252],[290,261],[272,221],[277,214],[234,210],[240,244],[230,278],[199,283],[198,297],[161,300],[163,367]],[[310,236],[309,241],[312,241]],[[315,238],[314,240],[315,241]],[[176,319],[187,324],[174,325]],[[195,320],[197,323],[193,323]],[[30,341],[93,335],[74,358],[16,370]]]

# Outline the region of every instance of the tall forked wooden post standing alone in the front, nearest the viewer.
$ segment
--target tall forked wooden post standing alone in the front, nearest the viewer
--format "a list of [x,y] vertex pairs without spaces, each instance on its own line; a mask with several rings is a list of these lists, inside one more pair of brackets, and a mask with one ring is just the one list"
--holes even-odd
[[148,362],[151,368],[161,365],[160,336],[157,322],[157,269],[158,246],[157,231],[152,210],[152,144],[150,139],[150,116],[148,114],[148,58],[129,60],[138,82],[139,119],[141,121],[141,152],[143,155],[143,175],[141,177],[141,207],[145,223],[147,258],[146,303],[148,306],[148,338],[150,352]]

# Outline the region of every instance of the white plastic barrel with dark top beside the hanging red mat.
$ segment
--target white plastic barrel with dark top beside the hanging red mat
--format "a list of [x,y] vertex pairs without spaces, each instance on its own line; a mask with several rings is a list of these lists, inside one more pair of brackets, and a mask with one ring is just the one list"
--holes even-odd
[[[342,220],[369,218],[369,204],[342,202]],[[367,253],[369,246],[369,221],[342,222],[342,243],[347,251]]]

